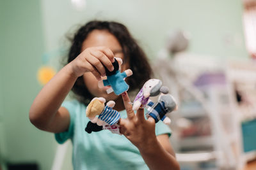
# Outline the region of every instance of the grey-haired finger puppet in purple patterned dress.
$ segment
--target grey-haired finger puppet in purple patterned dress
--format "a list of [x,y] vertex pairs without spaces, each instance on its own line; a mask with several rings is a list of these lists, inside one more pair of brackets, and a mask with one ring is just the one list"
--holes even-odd
[[163,87],[162,85],[162,81],[158,79],[150,79],[146,81],[134,99],[132,110],[145,108],[145,106],[147,106],[149,97],[157,96],[160,94],[160,92],[166,91],[167,87]]

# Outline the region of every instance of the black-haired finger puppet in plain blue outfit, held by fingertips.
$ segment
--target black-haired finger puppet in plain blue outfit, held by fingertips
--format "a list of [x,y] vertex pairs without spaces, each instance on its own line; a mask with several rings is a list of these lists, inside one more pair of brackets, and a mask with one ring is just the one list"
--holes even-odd
[[[98,85],[100,88],[104,86],[111,86],[116,95],[120,95],[129,89],[129,85],[124,81],[124,78],[132,75],[131,69],[127,69],[124,72],[120,72],[120,66],[122,65],[122,59],[115,58],[115,62],[112,63],[114,66],[113,71],[109,71],[106,66],[106,80],[100,80]],[[107,91],[108,92],[108,91]],[[108,92],[109,93],[109,92]]]

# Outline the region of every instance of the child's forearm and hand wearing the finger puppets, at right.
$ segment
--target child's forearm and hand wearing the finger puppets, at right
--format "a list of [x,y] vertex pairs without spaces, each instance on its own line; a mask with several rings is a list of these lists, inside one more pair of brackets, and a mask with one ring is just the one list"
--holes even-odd
[[120,120],[120,132],[140,150],[149,169],[180,169],[168,135],[156,136],[154,118],[145,120],[143,109],[138,110],[135,115],[127,92],[122,94],[122,98],[127,119]]

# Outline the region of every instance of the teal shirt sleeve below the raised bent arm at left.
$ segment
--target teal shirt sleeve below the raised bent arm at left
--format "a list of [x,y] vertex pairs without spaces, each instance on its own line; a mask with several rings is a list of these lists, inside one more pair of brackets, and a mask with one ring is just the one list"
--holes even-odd
[[77,101],[65,101],[63,104],[61,104],[61,107],[64,107],[68,110],[68,113],[70,115],[70,124],[68,126],[68,130],[65,132],[60,132],[55,134],[55,139],[58,143],[63,144],[67,139],[72,138],[74,133],[74,122],[76,118],[76,103]]

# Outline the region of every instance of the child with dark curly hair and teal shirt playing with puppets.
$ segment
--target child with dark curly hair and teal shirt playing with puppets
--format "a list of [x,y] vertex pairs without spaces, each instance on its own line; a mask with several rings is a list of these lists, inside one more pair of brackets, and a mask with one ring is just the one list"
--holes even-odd
[[[68,53],[64,66],[36,96],[29,118],[38,129],[54,132],[58,143],[72,140],[74,169],[179,169],[169,143],[170,129],[162,122],[136,115],[127,92],[121,96],[107,94],[97,86],[100,76],[113,70],[114,56],[123,60],[122,71],[131,69],[127,78],[129,92],[139,90],[152,73],[145,54],[127,28],[116,22],[92,21],[81,27]],[[64,102],[72,90],[77,99]],[[88,134],[84,127],[90,121],[86,106],[93,97],[115,101],[121,114],[120,132],[108,130]]]

